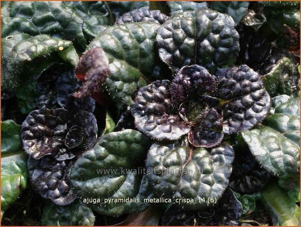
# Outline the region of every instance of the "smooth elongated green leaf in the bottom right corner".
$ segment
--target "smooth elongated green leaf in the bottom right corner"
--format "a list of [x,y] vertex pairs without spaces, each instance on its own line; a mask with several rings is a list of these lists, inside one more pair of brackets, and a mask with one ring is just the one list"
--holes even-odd
[[269,212],[273,226],[300,226],[300,207],[277,182],[269,182],[261,191],[261,202]]

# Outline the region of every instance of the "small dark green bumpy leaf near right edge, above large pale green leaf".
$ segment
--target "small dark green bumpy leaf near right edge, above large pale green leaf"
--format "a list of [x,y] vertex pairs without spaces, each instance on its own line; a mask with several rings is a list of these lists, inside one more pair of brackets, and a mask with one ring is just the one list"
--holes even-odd
[[296,92],[296,82],[300,75],[289,58],[283,57],[270,67],[270,71],[263,76],[263,82],[272,97],[279,94],[292,95]]

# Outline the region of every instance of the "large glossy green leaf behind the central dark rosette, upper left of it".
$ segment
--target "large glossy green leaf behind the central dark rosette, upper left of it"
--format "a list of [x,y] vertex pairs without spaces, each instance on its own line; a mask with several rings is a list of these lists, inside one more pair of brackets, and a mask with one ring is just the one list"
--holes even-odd
[[145,78],[162,78],[164,67],[156,54],[155,36],[160,25],[154,22],[117,24],[99,34],[88,46],[101,47],[110,62],[110,76],[104,89],[119,105],[132,105],[137,88]]

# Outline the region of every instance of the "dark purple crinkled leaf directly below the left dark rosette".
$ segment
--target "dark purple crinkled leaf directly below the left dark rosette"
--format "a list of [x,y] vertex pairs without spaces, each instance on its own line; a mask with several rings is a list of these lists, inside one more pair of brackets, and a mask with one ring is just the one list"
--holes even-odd
[[44,199],[50,199],[59,206],[72,203],[76,199],[69,184],[69,171],[74,160],[57,161],[52,156],[40,160],[29,158],[28,173],[34,188]]

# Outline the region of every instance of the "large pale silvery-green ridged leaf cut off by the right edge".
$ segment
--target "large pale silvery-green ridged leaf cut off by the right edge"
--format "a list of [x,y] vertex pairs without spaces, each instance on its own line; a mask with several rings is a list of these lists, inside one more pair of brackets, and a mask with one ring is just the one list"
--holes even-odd
[[281,99],[261,129],[243,131],[242,137],[265,170],[274,176],[300,174],[300,100]]

